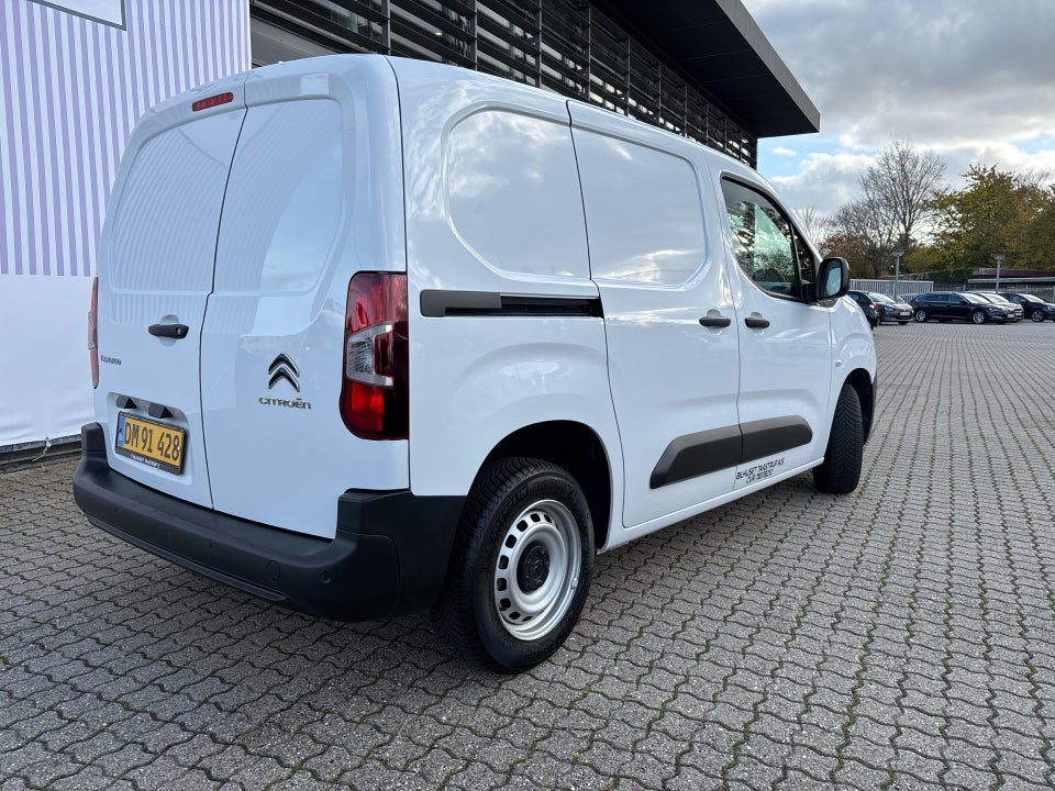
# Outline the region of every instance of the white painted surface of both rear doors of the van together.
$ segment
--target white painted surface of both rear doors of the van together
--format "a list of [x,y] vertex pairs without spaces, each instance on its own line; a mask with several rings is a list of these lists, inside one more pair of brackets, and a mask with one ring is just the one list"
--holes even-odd
[[[406,269],[396,78],[380,57],[332,65],[249,73],[227,113],[185,100],[132,153],[100,266],[100,353],[121,365],[103,361],[97,415],[112,433],[124,397],[159,404],[141,416],[187,448],[152,466],[111,438],[113,468],[320,537],[348,489],[409,487],[407,441],[355,437],[340,413],[348,281]],[[171,323],[187,336],[148,332]]]

